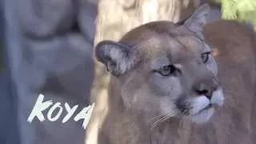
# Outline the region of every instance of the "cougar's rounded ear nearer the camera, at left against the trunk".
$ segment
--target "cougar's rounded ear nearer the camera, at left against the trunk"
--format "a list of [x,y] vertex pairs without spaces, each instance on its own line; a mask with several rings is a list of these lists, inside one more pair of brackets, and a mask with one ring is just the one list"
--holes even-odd
[[129,47],[119,42],[99,42],[95,47],[95,56],[116,77],[126,73],[134,64]]

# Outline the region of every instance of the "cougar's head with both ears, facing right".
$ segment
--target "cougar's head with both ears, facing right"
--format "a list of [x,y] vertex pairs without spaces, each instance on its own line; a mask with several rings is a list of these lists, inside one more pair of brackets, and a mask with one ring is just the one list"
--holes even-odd
[[98,43],[96,58],[118,79],[126,109],[202,123],[222,106],[217,65],[202,35],[208,11],[203,5],[184,22],[150,22],[119,42]]

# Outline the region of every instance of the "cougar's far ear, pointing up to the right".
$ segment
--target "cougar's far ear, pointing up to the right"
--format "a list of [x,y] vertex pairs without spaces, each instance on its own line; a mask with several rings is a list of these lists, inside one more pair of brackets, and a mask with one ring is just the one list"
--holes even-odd
[[210,6],[208,4],[203,4],[195,10],[194,14],[187,18],[184,22],[184,26],[186,26],[191,31],[201,34],[203,26],[206,25],[206,19],[208,17],[210,11]]

